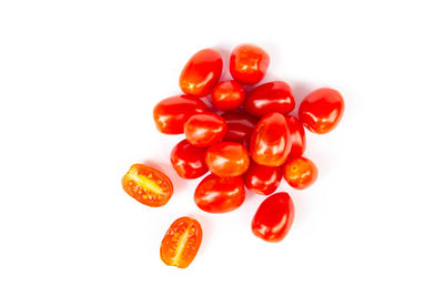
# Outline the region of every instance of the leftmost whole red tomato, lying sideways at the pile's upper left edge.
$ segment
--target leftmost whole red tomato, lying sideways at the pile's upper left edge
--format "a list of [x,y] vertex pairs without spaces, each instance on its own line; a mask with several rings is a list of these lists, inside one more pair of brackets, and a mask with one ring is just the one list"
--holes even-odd
[[164,134],[181,134],[190,116],[205,110],[206,105],[194,96],[186,94],[171,96],[154,106],[155,126]]

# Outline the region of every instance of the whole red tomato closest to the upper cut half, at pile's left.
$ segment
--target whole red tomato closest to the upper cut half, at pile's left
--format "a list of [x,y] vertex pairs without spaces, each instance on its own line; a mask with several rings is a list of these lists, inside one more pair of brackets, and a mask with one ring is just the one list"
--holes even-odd
[[171,151],[170,161],[179,176],[183,178],[196,178],[208,172],[205,164],[205,151],[195,147],[186,140],[179,142]]

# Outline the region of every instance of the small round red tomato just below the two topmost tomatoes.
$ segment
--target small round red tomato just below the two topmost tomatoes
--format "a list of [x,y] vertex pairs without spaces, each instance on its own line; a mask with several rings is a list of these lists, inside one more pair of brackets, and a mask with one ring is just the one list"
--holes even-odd
[[240,108],[244,99],[245,91],[242,84],[234,80],[219,82],[211,94],[213,105],[223,111]]

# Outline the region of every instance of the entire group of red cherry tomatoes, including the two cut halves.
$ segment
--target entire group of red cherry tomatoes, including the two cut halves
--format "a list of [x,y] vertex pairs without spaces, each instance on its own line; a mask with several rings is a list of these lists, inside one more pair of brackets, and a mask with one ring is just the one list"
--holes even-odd
[[[251,227],[266,242],[279,242],[290,231],[294,205],[287,193],[274,193],[282,177],[294,188],[313,184],[317,169],[302,156],[304,126],[323,134],[340,122],[344,101],[333,89],[314,90],[302,101],[299,116],[291,86],[272,81],[246,92],[245,85],[259,83],[270,64],[269,54],[252,44],[234,48],[230,57],[233,80],[219,81],[223,62],[212,49],[195,53],[179,79],[184,94],[159,102],[153,111],[158,130],[183,134],[171,151],[171,164],[183,178],[198,178],[210,171],[194,192],[194,202],[208,213],[226,213],[242,205],[245,187],[271,195],[255,213]],[[211,98],[206,106],[200,98]],[[134,164],[123,176],[124,191],[148,206],[162,206],[173,193],[162,172]],[[274,193],[274,194],[273,194]],[[190,217],[176,220],[161,244],[167,265],[184,268],[199,251],[202,228]]]

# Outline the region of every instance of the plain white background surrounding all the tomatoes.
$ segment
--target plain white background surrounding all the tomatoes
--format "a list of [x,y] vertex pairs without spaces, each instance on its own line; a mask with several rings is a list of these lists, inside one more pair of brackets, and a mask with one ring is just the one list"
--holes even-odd
[[[0,2],[0,295],[443,295],[442,1]],[[345,98],[343,121],[307,134],[319,181],[291,190],[279,244],[252,235],[263,200],[212,215],[193,202],[154,104],[179,94],[198,50],[242,42],[300,100]],[[228,75],[226,75],[228,78]],[[151,162],[175,194],[162,208],[120,180]],[[188,269],[159,258],[164,232],[203,227]]]

